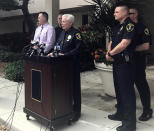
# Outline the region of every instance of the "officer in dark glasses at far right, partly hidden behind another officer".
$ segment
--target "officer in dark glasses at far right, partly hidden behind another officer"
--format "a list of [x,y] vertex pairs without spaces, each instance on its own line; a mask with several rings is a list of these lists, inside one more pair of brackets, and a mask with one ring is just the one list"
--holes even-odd
[[147,121],[152,117],[150,88],[146,80],[146,51],[151,44],[151,34],[149,29],[141,22],[138,21],[138,10],[136,8],[129,9],[129,16],[132,21],[136,23],[137,30],[137,47],[135,53],[136,61],[136,78],[135,84],[138,89],[141,102],[143,105],[143,113],[139,117],[140,121]]

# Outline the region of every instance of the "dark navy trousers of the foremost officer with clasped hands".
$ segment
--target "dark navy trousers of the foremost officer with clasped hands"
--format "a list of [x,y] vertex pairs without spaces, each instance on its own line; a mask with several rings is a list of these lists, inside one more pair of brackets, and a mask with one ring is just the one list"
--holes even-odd
[[117,113],[123,118],[122,124],[136,128],[135,62],[115,62],[113,64],[113,79]]

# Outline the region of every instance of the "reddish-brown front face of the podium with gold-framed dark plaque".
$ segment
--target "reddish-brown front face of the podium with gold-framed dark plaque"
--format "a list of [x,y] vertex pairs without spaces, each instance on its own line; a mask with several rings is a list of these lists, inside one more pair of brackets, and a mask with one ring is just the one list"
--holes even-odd
[[[50,77],[50,65],[25,61],[24,66],[25,107],[47,119],[51,119],[51,116],[53,116],[53,110],[51,109],[52,79]],[[34,79],[36,75],[35,73],[38,75],[36,79],[37,81]]]

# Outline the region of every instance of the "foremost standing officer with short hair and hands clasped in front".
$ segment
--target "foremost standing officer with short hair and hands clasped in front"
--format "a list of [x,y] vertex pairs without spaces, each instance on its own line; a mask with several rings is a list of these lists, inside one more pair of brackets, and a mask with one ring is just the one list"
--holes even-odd
[[119,24],[113,29],[106,59],[113,62],[113,78],[117,100],[117,112],[109,115],[111,120],[122,121],[117,131],[135,131],[136,97],[134,91],[135,24],[129,18],[126,5],[117,5],[114,12]]

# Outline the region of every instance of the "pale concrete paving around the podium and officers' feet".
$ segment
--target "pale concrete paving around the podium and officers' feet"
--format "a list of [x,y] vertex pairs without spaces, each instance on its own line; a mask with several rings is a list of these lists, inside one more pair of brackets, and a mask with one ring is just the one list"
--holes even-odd
[[[154,109],[154,67],[147,69],[147,78],[151,87],[152,108]],[[57,126],[56,131],[115,131],[120,122],[107,119],[109,113],[115,111],[115,99],[106,96],[104,93],[103,83],[99,78],[98,70],[85,72],[81,74],[82,80],[82,117],[72,126],[67,124]],[[18,87],[18,88],[17,88]],[[45,131],[46,127],[38,123],[34,118],[26,120],[23,113],[24,107],[24,85],[18,86],[17,83],[0,78],[0,119],[1,124],[9,128],[13,116],[16,91],[21,94],[18,99],[16,112],[14,114],[13,127],[11,131]],[[140,99],[137,96],[137,117],[141,114],[142,108]],[[9,118],[9,119],[8,119]],[[7,121],[7,122],[5,122]],[[48,129],[47,129],[48,130]],[[154,118],[148,122],[137,121],[137,131],[153,131]]]

